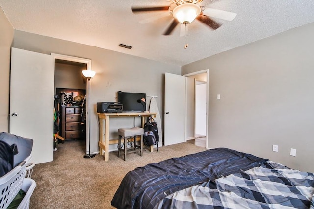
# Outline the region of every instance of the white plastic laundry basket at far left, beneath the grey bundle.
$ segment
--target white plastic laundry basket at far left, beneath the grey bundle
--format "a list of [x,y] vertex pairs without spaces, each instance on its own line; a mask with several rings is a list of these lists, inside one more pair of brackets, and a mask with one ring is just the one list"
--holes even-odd
[[31,156],[28,156],[20,165],[0,178],[0,209],[6,209],[20,191],[25,178],[26,164],[30,159]]

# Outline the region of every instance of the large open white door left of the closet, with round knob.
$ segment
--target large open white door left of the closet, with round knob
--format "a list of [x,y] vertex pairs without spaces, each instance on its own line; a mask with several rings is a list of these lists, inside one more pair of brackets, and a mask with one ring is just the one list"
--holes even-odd
[[34,140],[34,163],[53,160],[53,89],[53,57],[12,48],[9,131]]

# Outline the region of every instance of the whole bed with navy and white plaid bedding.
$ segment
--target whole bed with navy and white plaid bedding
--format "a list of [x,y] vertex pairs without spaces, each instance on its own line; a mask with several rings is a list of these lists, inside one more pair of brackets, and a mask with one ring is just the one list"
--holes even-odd
[[314,174],[216,148],[128,172],[111,205],[118,209],[314,209]]

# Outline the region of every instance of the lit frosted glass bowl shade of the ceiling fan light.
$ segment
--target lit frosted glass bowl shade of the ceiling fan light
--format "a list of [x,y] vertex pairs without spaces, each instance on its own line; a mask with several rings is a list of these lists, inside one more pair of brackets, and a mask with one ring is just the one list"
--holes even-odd
[[201,7],[194,3],[183,3],[173,9],[172,15],[181,24],[192,23],[201,13]]

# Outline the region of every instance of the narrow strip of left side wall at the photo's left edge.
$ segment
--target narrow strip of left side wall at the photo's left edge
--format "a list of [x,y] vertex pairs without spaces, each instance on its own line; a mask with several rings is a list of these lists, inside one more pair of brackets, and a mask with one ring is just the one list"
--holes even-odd
[[0,7],[0,132],[9,131],[10,56],[14,29]]

